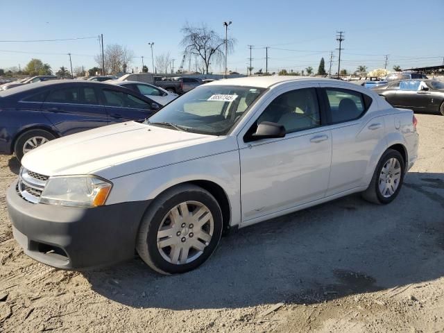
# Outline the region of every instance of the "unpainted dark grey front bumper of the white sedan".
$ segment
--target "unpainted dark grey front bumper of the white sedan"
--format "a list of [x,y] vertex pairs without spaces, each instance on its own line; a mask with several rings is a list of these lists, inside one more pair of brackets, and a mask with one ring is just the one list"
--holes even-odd
[[12,232],[29,257],[65,269],[106,266],[134,256],[149,200],[94,208],[29,203],[8,189]]

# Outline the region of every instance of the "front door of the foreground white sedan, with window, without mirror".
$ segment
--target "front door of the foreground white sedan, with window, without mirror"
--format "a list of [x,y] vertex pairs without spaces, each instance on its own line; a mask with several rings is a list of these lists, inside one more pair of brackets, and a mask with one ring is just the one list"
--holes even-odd
[[[330,130],[323,128],[316,88],[298,87],[275,92],[238,135],[242,223],[259,222],[325,196]],[[248,142],[248,133],[262,121],[283,125],[287,134]]]

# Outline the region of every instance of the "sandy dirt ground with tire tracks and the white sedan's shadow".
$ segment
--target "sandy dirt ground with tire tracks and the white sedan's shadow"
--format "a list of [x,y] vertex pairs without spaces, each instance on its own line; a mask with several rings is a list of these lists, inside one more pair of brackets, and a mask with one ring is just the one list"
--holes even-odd
[[18,165],[0,157],[0,331],[444,332],[444,117],[417,117],[420,159],[390,205],[353,195],[253,225],[175,276],[26,257],[4,196]]

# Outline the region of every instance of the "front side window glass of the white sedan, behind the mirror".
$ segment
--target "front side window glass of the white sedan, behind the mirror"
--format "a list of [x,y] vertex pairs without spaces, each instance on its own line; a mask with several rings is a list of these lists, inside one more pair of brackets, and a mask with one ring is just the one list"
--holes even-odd
[[321,125],[318,99],[314,88],[286,92],[274,99],[257,119],[272,121],[285,127],[287,133]]

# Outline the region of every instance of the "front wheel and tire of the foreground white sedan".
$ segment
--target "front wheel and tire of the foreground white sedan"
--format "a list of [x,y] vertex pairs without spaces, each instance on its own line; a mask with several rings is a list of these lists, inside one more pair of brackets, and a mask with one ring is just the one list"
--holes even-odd
[[[184,214],[184,204],[189,214]],[[204,220],[202,227],[194,225]],[[148,207],[137,234],[136,250],[157,273],[185,273],[212,255],[222,228],[221,207],[210,192],[196,185],[178,185],[160,194]]]

